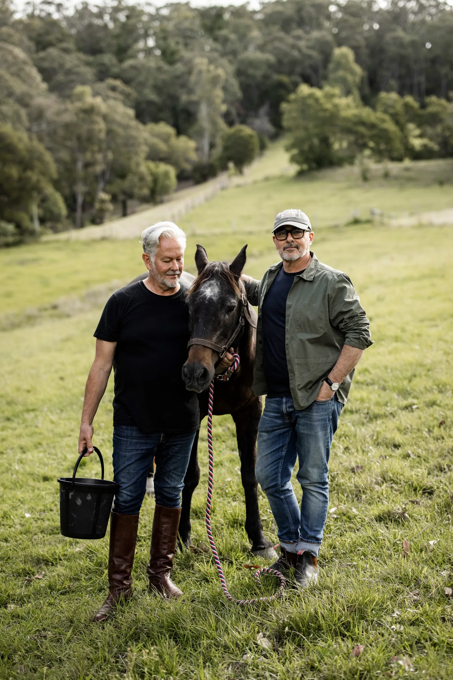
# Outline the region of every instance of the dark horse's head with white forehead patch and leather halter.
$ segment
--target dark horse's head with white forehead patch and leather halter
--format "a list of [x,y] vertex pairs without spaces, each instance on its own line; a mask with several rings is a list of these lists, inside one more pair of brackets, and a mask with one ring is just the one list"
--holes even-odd
[[198,277],[187,296],[191,341],[182,374],[187,390],[192,392],[209,388],[217,362],[234,345],[243,328],[247,300],[239,277],[247,259],[246,249],[244,245],[229,265],[209,262],[206,250],[197,244]]

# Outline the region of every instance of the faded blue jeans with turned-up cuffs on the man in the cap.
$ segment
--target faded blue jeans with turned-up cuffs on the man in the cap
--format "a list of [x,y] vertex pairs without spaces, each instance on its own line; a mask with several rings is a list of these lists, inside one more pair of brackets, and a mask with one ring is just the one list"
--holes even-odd
[[[289,552],[318,556],[329,506],[329,462],[342,403],[336,395],[296,411],[290,396],[267,398],[258,428],[255,474],[268,496],[278,538]],[[302,503],[291,486],[299,458],[297,481]]]

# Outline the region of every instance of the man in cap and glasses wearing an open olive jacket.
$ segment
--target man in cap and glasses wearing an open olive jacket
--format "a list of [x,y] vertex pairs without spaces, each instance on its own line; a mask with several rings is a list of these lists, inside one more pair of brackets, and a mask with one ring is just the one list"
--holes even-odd
[[[281,556],[272,568],[306,588],[318,579],[333,435],[372,340],[349,277],[310,251],[306,214],[279,213],[272,238],[282,262],[261,281],[242,276],[249,302],[258,306],[253,390],[267,395],[255,474],[278,526]],[[300,507],[291,486],[297,458]]]

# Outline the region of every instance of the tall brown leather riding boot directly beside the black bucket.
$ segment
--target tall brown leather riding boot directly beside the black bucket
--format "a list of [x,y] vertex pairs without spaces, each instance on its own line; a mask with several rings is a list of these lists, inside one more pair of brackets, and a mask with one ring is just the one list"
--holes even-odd
[[110,514],[109,594],[94,615],[96,622],[105,621],[120,599],[128,600],[132,595],[132,565],[138,526],[139,515]]

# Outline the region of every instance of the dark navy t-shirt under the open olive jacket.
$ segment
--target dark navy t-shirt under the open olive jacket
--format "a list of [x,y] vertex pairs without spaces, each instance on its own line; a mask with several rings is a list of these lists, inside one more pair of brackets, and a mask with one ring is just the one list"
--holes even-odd
[[271,398],[291,396],[285,344],[286,302],[294,277],[303,271],[305,269],[287,273],[282,267],[266,293],[261,309],[264,377]]

